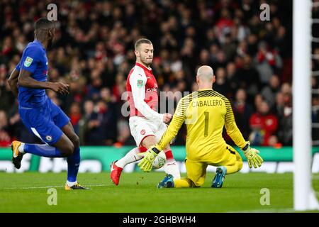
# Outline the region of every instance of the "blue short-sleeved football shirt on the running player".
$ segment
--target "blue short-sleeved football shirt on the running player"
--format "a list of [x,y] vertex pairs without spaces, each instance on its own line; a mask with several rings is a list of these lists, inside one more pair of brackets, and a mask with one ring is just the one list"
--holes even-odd
[[[16,66],[16,70],[21,69],[31,72],[31,77],[39,82],[47,81],[47,55],[40,41],[34,40],[23,50],[21,61]],[[45,89],[18,86],[19,106],[38,107],[45,104],[46,99]]]

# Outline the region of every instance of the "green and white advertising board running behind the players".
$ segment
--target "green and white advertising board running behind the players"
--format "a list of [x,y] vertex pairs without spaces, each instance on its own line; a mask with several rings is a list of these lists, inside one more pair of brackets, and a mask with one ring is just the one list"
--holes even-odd
[[[103,172],[110,171],[110,163],[123,157],[128,150],[133,147],[82,147],[81,148],[81,165],[79,172]],[[293,172],[293,152],[291,147],[280,149],[259,147],[260,154],[264,159],[262,167],[251,169],[247,162],[244,162],[240,172],[267,172],[267,173],[284,173]],[[172,147],[174,157],[179,164],[182,173],[186,172],[184,165],[185,148],[183,146]],[[236,149],[242,155],[240,149]],[[245,156],[242,155],[245,160]],[[23,157],[20,170],[16,170],[11,163],[11,149],[0,149],[0,171],[1,172],[62,172],[67,170],[67,161],[64,158],[48,158],[26,154]],[[208,172],[215,172],[216,167],[208,167]],[[127,165],[124,172],[139,172],[137,163]],[[163,171],[162,169],[157,171]],[[319,172],[319,148],[313,148],[312,172]]]

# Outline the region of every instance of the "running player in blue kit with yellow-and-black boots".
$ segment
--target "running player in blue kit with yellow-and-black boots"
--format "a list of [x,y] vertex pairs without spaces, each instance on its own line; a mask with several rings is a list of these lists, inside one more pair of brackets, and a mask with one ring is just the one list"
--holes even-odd
[[23,124],[45,144],[13,141],[12,162],[19,169],[25,153],[43,157],[67,157],[66,190],[86,189],[77,183],[80,150],[79,137],[74,133],[67,115],[47,97],[45,89],[69,94],[68,84],[47,82],[46,48],[52,45],[55,26],[40,18],[35,22],[35,40],[23,50],[21,61],[8,80],[18,97],[18,111]]

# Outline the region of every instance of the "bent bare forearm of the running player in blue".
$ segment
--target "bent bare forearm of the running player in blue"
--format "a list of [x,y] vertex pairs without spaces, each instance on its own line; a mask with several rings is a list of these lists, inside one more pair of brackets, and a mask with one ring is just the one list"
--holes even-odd
[[69,84],[61,82],[40,82],[31,77],[32,73],[21,69],[18,76],[18,84],[22,87],[30,87],[35,89],[51,89],[60,94],[69,94]]

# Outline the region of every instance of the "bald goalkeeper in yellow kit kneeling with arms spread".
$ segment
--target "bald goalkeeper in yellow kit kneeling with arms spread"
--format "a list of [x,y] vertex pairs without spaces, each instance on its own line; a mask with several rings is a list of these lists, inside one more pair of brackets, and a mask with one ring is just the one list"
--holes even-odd
[[150,172],[157,154],[177,135],[182,124],[186,123],[187,177],[173,179],[172,175],[167,175],[157,187],[201,187],[205,182],[208,165],[218,166],[211,187],[222,187],[225,175],[240,171],[242,158],[234,148],[225,143],[222,136],[224,126],[230,138],[243,150],[250,168],[262,165],[259,151],[250,148],[250,143],[245,141],[237,128],[230,102],[212,89],[215,80],[211,67],[200,67],[196,76],[198,91],[179,101],[172,122],[162,138],[146,153],[141,153],[144,158],[138,166],[144,172]]

